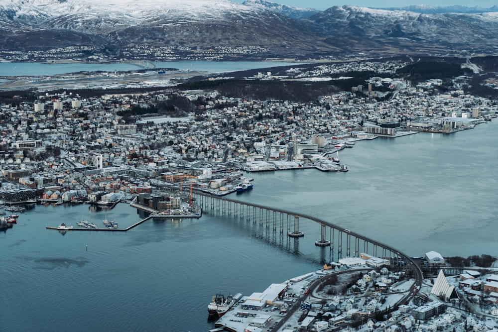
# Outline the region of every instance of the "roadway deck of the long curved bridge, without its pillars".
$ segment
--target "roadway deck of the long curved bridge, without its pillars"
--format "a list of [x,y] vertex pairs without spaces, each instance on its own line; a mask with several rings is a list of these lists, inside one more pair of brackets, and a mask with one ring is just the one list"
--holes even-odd
[[[308,220],[317,222],[320,225],[325,225],[327,227],[337,229],[338,231],[346,233],[348,236],[354,236],[355,238],[362,239],[364,241],[364,243],[372,243],[374,246],[378,246],[378,247],[383,248],[387,251],[395,253],[401,260],[406,261],[406,264],[408,264],[409,267],[413,270],[415,284],[412,287],[412,289],[410,290],[410,294],[407,295],[406,297],[404,297],[402,302],[406,301],[408,298],[411,298],[413,295],[415,295],[418,292],[418,289],[420,289],[420,286],[421,286],[422,280],[423,280],[423,272],[422,272],[420,265],[415,260],[410,258],[410,256],[402,253],[401,251],[395,249],[394,247],[392,247],[390,245],[381,243],[379,241],[374,240],[373,238],[370,238],[370,237],[364,236],[362,234],[353,232],[349,229],[345,229],[343,227],[340,227],[332,222],[325,221],[323,219],[316,218],[316,217],[313,217],[310,215],[296,213],[296,212],[284,210],[284,209],[270,208],[270,207],[266,207],[266,206],[263,206],[260,204],[247,203],[247,202],[243,202],[243,201],[239,201],[239,200],[234,200],[234,199],[229,199],[229,198],[224,198],[224,197],[219,197],[219,196],[213,196],[213,195],[209,195],[209,194],[205,194],[205,193],[201,193],[201,192],[195,192],[195,193],[193,193],[193,195],[197,195],[197,196],[200,195],[200,196],[208,197],[209,199],[217,199],[217,200],[221,200],[221,201],[231,202],[234,204],[246,205],[246,206],[250,206],[250,207],[254,207],[254,208],[258,208],[258,209],[262,209],[262,210],[269,210],[269,211],[274,211],[274,212],[278,212],[281,214],[286,214],[286,215],[291,215],[291,216],[295,216],[295,217],[308,219]],[[197,202],[197,203],[199,203],[199,202]],[[342,243],[340,243],[340,245],[342,245]]]

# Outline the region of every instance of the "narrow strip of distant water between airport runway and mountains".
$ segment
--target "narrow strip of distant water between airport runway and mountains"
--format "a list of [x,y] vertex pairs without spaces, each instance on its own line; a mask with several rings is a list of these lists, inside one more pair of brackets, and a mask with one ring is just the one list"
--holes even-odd
[[[292,62],[267,62],[267,61],[167,61],[154,62],[156,68],[176,68],[178,70],[203,71],[208,73],[226,73],[249,69],[291,66]],[[302,63],[295,63],[296,65]],[[143,69],[127,63],[59,63],[46,64],[36,62],[0,62],[0,76],[36,76],[58,75],[87,72],[114,72],[133,71]],[[0,82],[2,83],[2,82]]]

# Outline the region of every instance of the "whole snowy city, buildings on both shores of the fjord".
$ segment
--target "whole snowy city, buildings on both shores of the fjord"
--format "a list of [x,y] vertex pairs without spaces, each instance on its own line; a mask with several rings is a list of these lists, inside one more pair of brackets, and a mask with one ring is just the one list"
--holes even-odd
[[[286,69],[288,77],[258,72],[247,78],[321,81],[355,70],[384,75],[314,102],[248,100],[216,89],[172,87],[84,97],[69,90],[14,96],[12,103],[1,104],[2,201],[10,207],[36,201],[126,202],[152,218],[200,218],[201,203],[192,200],[193,191],[225,196],[251,189],[250,173],[258,171],[344,172],[348,166],[337,153],[354,149],[360,140],[420,131],[452,134],[497,116],[495,101],[464,93],[465,77],[453,80],[444,93],[440,79],[412,87],[408,80],[387,77],[404,65],[322,64],[309,71]],[[65,233],[135,226],[87,225],[47,228]],[[439,261],[429,262],[431,255]],[[489,266],[482,275],[479,268],[452,269],[431,252],[423,262],[399,252],[347,256],[272,284],[261,293],[269,297],[240,294],[213,331],[489,331],[496,324],[496,280]],[[424,269],[425,279],[414,277],[415,265]],[[447,270],[458,273],[445,277]]]

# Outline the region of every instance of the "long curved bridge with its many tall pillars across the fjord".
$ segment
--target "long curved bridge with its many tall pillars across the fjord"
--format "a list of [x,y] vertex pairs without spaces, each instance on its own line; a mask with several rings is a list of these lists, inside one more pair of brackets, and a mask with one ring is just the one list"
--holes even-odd
[[296,213],[283,209],[270,208],[259,204],[242,202],[220,196],[213,196],[201,192],[193,192],[193,198],[202,210],[211,210],[221,214],[240,216],[253,223],[279,229],[280,233],[286,233],[289,237],[299,238],[304,232],[299,230],[299,221],[302,219],[316,222],[320,226],[320,240],[315,241],[316,246],[330,246],[332,260],[334,252],[337,259],[343,257],[358,257],[362,252],[394,261],[406,261],[410,265],[416,278],[416,284],[420,286],[423,273],[420,266],[408,255],[393,248],[390,245],[376,241],[370,237],[361,235],[352,230],[343,228],[330,221],[325,221],[310,215]]

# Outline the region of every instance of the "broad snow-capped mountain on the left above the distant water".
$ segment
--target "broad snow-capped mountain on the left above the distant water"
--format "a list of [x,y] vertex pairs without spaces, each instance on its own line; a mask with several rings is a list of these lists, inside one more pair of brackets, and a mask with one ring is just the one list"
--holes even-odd
[[[268,56],[315,52],[323,43],[302,23],[229,0],[3,0],[0,48],[26,51],[91,45],[124,48],[257,47]],[[321,46],[320,46],[321,45]]]

